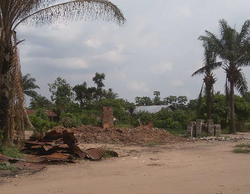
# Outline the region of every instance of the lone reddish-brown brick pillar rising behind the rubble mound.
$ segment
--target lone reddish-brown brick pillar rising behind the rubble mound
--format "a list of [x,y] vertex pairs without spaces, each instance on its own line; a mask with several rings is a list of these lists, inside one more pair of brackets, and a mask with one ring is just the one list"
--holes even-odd
[[108,129],[114,127],[114,115],[111,107],[102,108],[102,128]]

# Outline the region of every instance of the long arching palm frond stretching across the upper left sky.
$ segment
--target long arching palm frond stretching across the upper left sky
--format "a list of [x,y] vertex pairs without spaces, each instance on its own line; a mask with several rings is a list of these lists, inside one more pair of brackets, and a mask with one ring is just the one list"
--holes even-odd
[[107,0],[73,0],[38,10],[19,20],[36,26],[76,20],[103,20],[123,25],[126,21],[121,10]]

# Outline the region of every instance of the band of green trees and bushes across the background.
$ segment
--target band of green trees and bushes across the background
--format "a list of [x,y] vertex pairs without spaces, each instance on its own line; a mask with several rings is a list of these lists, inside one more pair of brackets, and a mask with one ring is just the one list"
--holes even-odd
[[[34,91],[39,88],[35,79],[27,75],[23,77],[24,91],[31,97],[30,109],[36,110],[30,116],[32,124],[40,132],[50,129],[55,125],[65,127],[77,127],[79,125],[101,125],[100,115],[103,106],[110,106],[114,109],[116,127],[137,127],[140,123],[147,125],[150,121],[155,127],[168,130],[185,130],[187,123],[196,119],[207,119],[207,97],[199,97],[188,100],[186,96],[170,95],[161,99],[160,91],[154,91],[154,97],[135,97],[135,103],[118,98],[118,94],[112,88],[105,89],[105,74],[96,73],[93,77],[95,87],[88,87],[86,82],[73,87],[61,77],[53,83],[48,84],[51,92],[50,100]],[[29,83],[29,84],[25,84]],[[30,87],[29,87],[30,86]],[[250,92],[243,97],[235,95],[236,126],[238,130],[246,130],[250,114]],[[213,94],[213,106],[211,117],[215,123],[221,124],[225,129],[229,124],[229,109],[226,103],[226,95],[220,92]],[[173,111],[162,109],[158,113],[151,114],[140,112],[134,114],[136,106],[150,105],[172,105]],[[45,109],[54,111],[59,115],[59,122],[50,122],[45,114]],[[140,119],[140,123],[138,122]]]

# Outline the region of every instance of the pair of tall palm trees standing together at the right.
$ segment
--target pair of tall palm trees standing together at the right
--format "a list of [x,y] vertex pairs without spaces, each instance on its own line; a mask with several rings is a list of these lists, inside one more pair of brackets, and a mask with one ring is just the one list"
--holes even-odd
[[[216,78],[212,70],[223,68],[226,73],[225,92],[228,98],[230,133],[236,133],[234,89],[241,95],[247,92],[247,82],[242,72],[242,67],[250,65],[250,20],[245,21],[241,31],[231,28],[227,21],[222,19],[220,24],[220,36],[206,31],[205,36],[200,36],[203,42],[205,65],[195,71],[192,76],[204,74],[205,96],[207,99],[207,117],[211,119],[213,85]],[[203,86],[200,92],[203,93]]]

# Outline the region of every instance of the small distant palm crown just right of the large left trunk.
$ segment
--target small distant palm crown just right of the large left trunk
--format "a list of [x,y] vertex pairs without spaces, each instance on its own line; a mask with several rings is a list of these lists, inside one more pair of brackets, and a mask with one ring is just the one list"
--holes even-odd
[[26,74],[22,76],[22,83],[23,83],[23,93],[31,98],[35,98],[38,96],[37,92],[34,89],[40,89],[38,85],[35,84],[36,79],[30,77],[30,74]]

